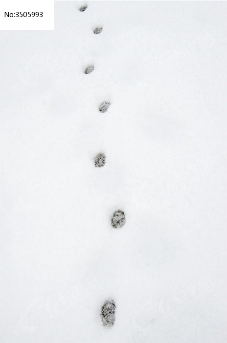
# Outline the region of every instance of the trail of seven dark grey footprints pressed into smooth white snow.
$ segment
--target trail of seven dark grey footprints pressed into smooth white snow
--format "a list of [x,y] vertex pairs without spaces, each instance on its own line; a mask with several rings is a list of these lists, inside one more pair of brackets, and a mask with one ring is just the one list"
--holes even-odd
[[[79,8],[80,12],[84,12],[88,8],[87,5],[82,6]],[[103,28],[102,27],[96,27],[93,30],[94,34],[100,34],[102,32]],[[90,74],[94,70],[94,66],[90,65],[85,68],[84,73],[85,74]],[[105,113],[108,111],[111,103],[109,101],[103,101],[99,105],[99,112],[100,113]],[[94,166],[96,168],[102,168],[105,166],[106,163],[106,156],[104,153],[99,153],[94,157]],[[125,224],[125,214],[121,210],[117,210],[114,212],[113,217],[111,219],[111,225],[114,229],[121,228]],[[111,327],[114,325],[115,321],[115,302],[113,299],[106,300],[104,304],[102,305],[101,308],[101,319],[102,323],[106,327]]]

